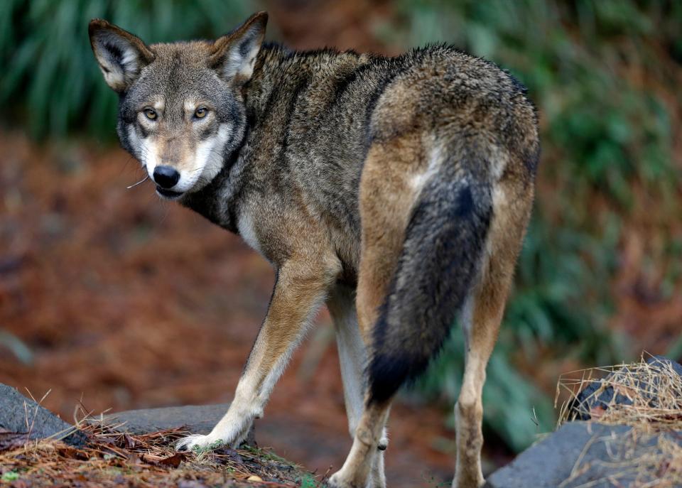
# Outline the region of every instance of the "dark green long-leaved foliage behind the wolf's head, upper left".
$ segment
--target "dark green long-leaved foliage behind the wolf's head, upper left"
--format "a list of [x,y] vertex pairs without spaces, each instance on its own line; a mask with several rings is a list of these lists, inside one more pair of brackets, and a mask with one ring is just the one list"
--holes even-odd
[[240,0],[0,1],[0,112],[38,137],[85,129],[113,139],[117,96],[90,50],[90,19],[155,43],[221,36],[250,7]]

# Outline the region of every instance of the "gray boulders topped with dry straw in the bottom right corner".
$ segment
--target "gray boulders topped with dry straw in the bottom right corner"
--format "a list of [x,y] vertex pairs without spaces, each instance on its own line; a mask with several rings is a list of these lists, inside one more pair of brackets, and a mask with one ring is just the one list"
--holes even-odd
[[494,472],[486,487],[682,486],[682,366],[654,356],[585,383],[568,406],[566,418],[576,421]]

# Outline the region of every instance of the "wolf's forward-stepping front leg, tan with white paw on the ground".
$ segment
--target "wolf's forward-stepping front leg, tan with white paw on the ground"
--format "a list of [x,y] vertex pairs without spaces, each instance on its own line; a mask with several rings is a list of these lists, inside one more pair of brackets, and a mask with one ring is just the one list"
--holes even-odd
[[263,416],[276,381],[324,302],[338,269],[336,258],[315,256],[290,259],[278,269],[268,314],[227,413],[208,435],[180,440],[178,450],[237,447],[242,443],[254,418]]

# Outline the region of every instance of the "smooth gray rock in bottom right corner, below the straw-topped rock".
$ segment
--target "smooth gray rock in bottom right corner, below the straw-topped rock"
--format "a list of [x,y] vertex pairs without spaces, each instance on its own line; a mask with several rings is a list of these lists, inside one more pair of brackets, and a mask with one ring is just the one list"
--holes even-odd
[[[624,455],[627,452],[628,460],[636,460],[645,452],[656,449],[659,440],[658,435],[634,435],[631,430],[627,425],[566,423],[490,475],[485,488],[555,488],[559,485],[574,488],[588,483],[591,488],[608,488],[613,484],[605,478],[613,475],[619,476],[619,486],[627,487],[634,481],[634,475],[622,476],[623,470],[614,467],[614,453]],[[659,435],[666,435],[682,445],[682,437],[676,431]],[[575,472],[580,475],[574,474],[571,478],[581,455],[580,470]]]

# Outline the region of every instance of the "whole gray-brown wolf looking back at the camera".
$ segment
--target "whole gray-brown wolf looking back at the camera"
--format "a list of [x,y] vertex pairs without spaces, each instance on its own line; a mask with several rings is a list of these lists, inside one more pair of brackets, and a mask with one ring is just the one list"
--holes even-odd
[[229,411],[179,448],[239,445],[326,303],[353,438],[330,485],[384,487],[391,400],[459,317],[453,486],[478,487],[485,367],[533,204],[534,107],[507,72],[448,45],[298,52],[264,44],[266,21],[154,45],[90,23],[119,139],[158,195],[242,235],[277,273]]

